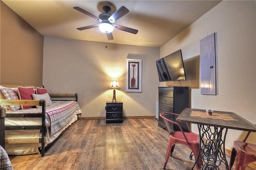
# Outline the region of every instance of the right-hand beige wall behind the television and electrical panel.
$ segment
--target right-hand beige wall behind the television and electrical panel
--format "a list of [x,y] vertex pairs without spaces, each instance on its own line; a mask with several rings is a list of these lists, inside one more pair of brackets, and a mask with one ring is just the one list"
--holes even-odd
[[[220,2],[163,45],[160,57],[182,49],[185,62],[198,63],[199,41],[214,32],[217,32],[218,43],[219,95],[201,95],[198,81],[198,88],[191,91],[191,107],[235,112],[256,124],[256,1]],[[192,77],[199,77],[199,65],[194,67],[198,71],[194,71]],[[187,84],[190,82],[189,77]],[[171,83],[161,83],[165,85]],[[197,131],[195,125],[192,129]],[[244,135],[245,132],[239,130],[228,130],[226,148],[230,150],[233,141],[241,140]],[[255,135],[251,139],[256,142]]]

